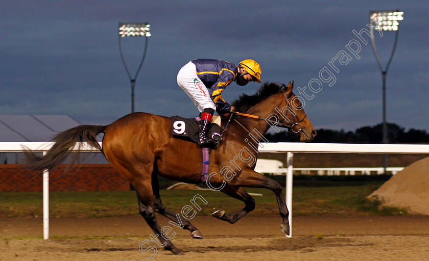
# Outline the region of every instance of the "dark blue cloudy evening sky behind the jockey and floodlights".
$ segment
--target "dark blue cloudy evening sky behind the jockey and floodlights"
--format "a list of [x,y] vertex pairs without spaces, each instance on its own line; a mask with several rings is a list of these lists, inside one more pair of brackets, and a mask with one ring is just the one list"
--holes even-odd
[[[109,124],[128,114],[120,21],[151,24],[136,81],[136,111],[192,117],[197,109],[176,83],[188,61],[254,59],[263,82],[294,80],[297,94],[297,87],[307,86],[339,51],[347,51],[345,45],[357,39],[352,30],[366,28],[370,10],[400,9],[404,19],[387,76],[387,119],[429,130],[429,2],[388,2],[2,1],[0,114],[66,114],[85,124]],[[384,66],[393,36],[375,35]],[[134,74],[144,39],[122,43]],[[338,65],[336,83],[324,83],[306,100],[304,110],[316,129],[354,130],[382,121],[382,77],[370,43],[362,44],[359,56]],[[258,86],[232,83],[223,96],[232,101]]]

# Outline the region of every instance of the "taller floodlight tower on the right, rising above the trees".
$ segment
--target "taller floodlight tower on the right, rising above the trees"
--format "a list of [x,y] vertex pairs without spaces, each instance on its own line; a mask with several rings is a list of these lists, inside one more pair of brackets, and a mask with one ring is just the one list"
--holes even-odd
[[[372,50],[374,51],[375,59],[377,60],[378,67],[380,68],[380,72],[382,73],[383,80],[383,140],[382,143],[387,144],[387,123],[386,123],[386,75],[387,70],[389,69],[390,62],[392,61],[393,54],[396,49],[396,42],[398,41],[398,33],[399,33],[399,22],[403,20],[403,12],[399,10],[394,11],[370,11],[369,12],[369,22],[372,25],[370,27],[371,33],[371,45]],[[373,28],[379,31],[395,31],[395,42],[393,44],[392,53],[390,55],[389,61],[387,62],[386,69],[383,69],[382,63],[378,58],[377,48],[375,48],[375,40],[374,40],[374,32]],[[384,173],[386,174],[387,167],[387,154],[383,155],[383,168]]]

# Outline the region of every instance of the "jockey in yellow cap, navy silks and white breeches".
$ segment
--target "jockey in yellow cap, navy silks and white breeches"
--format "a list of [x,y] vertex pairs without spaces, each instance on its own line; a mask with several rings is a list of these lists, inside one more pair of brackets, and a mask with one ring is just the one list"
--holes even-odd
[[177,83],[202,113],[199,145],[216,142],[208,137],[211,118],[216,110],[219,115],[231,111],[231,106],[222,98],[222,91],[232,82],[244,86],[260,81],[260,66],[251,59],[235,66],[223,60],[196,59],[183,66],[177,74]]

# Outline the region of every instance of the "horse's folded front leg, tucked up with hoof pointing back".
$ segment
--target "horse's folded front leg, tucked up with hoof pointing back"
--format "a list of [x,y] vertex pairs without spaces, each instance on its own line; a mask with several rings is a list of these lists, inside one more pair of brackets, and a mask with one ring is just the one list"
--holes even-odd
[[246,205],[241,211],[231,215],[225,215],[225,211],[218,210],[213,214],[211,214],[211,216],[233,224],[239,221],[247,213],[255,209],[255,199],[252,196],[250,196],[249,193],[247,193],[243,188],[236,188],[236,187],[231,187],[229,185],[225,185],[225,187],[221,190],[221,192],[233,198],[240,199]]

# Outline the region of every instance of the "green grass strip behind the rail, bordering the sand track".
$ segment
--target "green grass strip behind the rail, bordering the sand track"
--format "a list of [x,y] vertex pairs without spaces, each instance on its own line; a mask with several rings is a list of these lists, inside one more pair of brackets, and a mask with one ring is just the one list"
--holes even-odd
[[[295,187],[293,191],[294,216],[322,215],[406,215],[407,211],[395,207],[384,207],[378,200],[369,201],[366,196],[380,184],[335,187]],[[255,196],[256,208],[249,215],[277,215],[278,206],[274,194],[266,189],[247,189],[260,193]],[[210,215],[220,208],[233,213],[244,204],[221,192],[201,190],[161,190],[162,202],[175,212],[189,200],[200,194],[207,205],[197,215]],[[50,216],[58,218],[101,218],[139,215],[137,199],[133,191],[114,192],[51,192]],[[42,193],[40,192],[2,192],[0,193],[0,217],[41,217]]]

